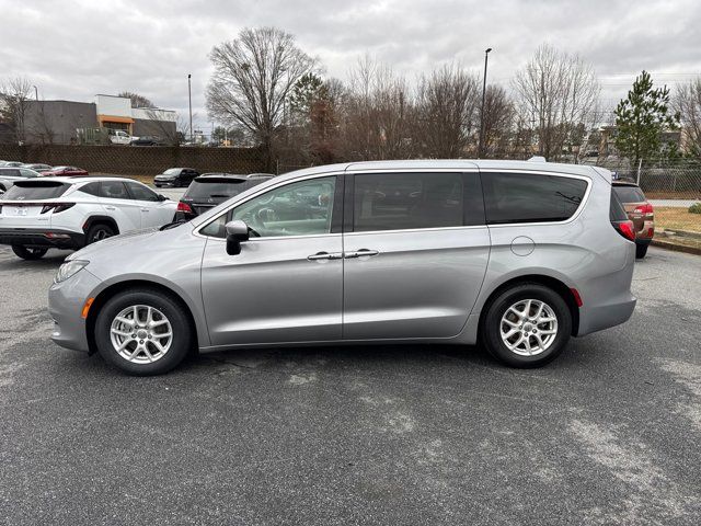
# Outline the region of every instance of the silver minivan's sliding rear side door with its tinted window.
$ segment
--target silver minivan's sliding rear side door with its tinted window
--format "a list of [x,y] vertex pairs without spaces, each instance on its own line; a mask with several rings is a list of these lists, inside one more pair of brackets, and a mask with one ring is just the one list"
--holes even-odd
[[347,184],[343,339],[460,333],[490,255],[476,170],[358,173]]

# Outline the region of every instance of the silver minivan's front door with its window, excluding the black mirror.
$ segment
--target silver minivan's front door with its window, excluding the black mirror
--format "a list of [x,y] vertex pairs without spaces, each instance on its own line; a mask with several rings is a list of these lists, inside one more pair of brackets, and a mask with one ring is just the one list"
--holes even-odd
[[[244,201],[200,230],[202,291],[212,345],[338,340],[343,306],[342,179],[287,183]],[[251,229],[226,250],[227,221]]]

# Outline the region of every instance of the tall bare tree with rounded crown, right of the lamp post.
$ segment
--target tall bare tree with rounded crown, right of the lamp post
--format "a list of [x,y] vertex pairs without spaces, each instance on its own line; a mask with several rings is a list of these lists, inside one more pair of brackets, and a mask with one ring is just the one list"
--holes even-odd
[[514,90],[525,122],[535,128],[538,153],[548,159],[578,133],[600,91],[590,65],[547,44],[516,73]]

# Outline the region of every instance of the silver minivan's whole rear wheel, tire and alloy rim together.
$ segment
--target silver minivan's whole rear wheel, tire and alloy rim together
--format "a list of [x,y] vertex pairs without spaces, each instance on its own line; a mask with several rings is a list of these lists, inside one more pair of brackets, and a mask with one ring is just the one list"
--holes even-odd
[[489,353],[512,367],[538,367],[562,353],[572,332],[572,313],[562,296],[527,283],[501,293],[483,318]]

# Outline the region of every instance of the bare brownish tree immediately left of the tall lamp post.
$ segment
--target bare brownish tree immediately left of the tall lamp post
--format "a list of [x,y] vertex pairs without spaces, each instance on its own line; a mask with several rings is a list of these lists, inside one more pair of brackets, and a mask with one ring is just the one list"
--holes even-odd
[[416,102],[416,138],[425,157],[463,157],[479,125],[476,77],[456,65],[422,77]]

